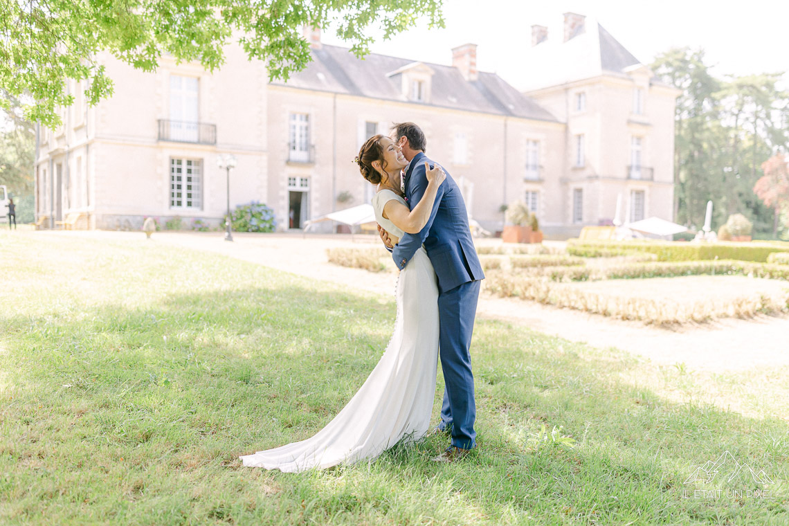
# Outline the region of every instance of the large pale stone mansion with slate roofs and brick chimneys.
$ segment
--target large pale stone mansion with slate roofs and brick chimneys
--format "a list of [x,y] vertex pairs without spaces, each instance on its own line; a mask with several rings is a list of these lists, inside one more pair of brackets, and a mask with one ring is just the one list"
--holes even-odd
[[678,91],[580,15],[565,14],[562,39],[532,30],[517,54],[534,72],[525,92],[477,71],[473,44],[452,50],[451,66],[360,60],[312,30],[312,62],[286,82],[269,82],[237,46],[214,74],[167,58],[143,73],[103,54],[114,94],[88,108],[73,83],[63,125],[39,128],[36,218],[72,215],[77,228],[99,229],[136,229],[149,216],[218,224],[227,173],[217,159],[230,154],[230,206],[266,203],[278,229],[302,229],[369,203],[374,188],[353,158],[368,136],[413,121],[490,231],[516,200],[549,238],[610,224],[619,194],[626,221],[673,219]]

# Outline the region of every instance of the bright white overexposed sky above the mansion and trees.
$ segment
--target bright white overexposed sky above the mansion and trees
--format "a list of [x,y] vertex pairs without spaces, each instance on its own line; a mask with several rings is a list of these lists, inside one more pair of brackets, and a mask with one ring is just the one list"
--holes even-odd
[[[789,0],[445,0],[446,28],[428,30],[421,21],[386,42],[370,32],[371,51],[451,65],[451,48],[475,43],[477,69],[519,88],[518,53],[531,45],[531,26],[548,26],[548,38],[560,39],[567,11],[596,18],[647,65],[671,47],[689,46],[705,49],[716,76],[789,71]],[[350,47],[331,28],[321,39]]]

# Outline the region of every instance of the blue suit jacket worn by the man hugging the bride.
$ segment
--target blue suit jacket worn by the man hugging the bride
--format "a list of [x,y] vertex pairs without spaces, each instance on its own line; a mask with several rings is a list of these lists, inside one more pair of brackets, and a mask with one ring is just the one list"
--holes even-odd
[[[409,208],[419,203],[428,188],[425,161],[430,166],[435,164],[420,152],[411,160],[406,172],[406,200]],[[392,250],[394,263],[403,269],[424,244],[439,278],[439,291],[442,293],[485,277],[471,239],[466,203],[450,173],[446,169],[444,172],[447,173],[447,179],[439,186],[427,224],[420,233],[406,233]]]

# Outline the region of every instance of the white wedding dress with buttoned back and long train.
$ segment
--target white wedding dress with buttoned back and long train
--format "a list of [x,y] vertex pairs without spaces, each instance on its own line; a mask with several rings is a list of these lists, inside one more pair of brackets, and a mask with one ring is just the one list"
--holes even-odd
[[[393,199],[406,204],[389,190],[376,193],[372,204],[380,226],[399,238],[402,230],[381,213]],[[301,472],[353,464],[427,433],[436,394],[439,311],[436,273],[424,247],[400,272],[395,297],[394,334],[345,408],[312,438],[240,457],[245,466]]]

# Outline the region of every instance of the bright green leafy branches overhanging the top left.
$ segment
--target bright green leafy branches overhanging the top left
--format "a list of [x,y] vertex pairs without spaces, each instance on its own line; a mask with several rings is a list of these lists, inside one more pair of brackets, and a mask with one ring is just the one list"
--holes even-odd
[[[50,128],[60,124],[56,108],[73,102],[66,80],[87,79],[91,104],[112,93],[99,51],[143,71],[155,70],[163,54],[214,71],[238,35],[251,60],[267,62],[271,79],[286,79],[309,61],[305,24],[335,23],[358,56],[368,53],[374,25],[383,39],[419,17],[443,27],[441,0],[2,0],[0,7],[0,86],[30,95],[25,118]],[[9,107],[8,99],[0,105]]]

